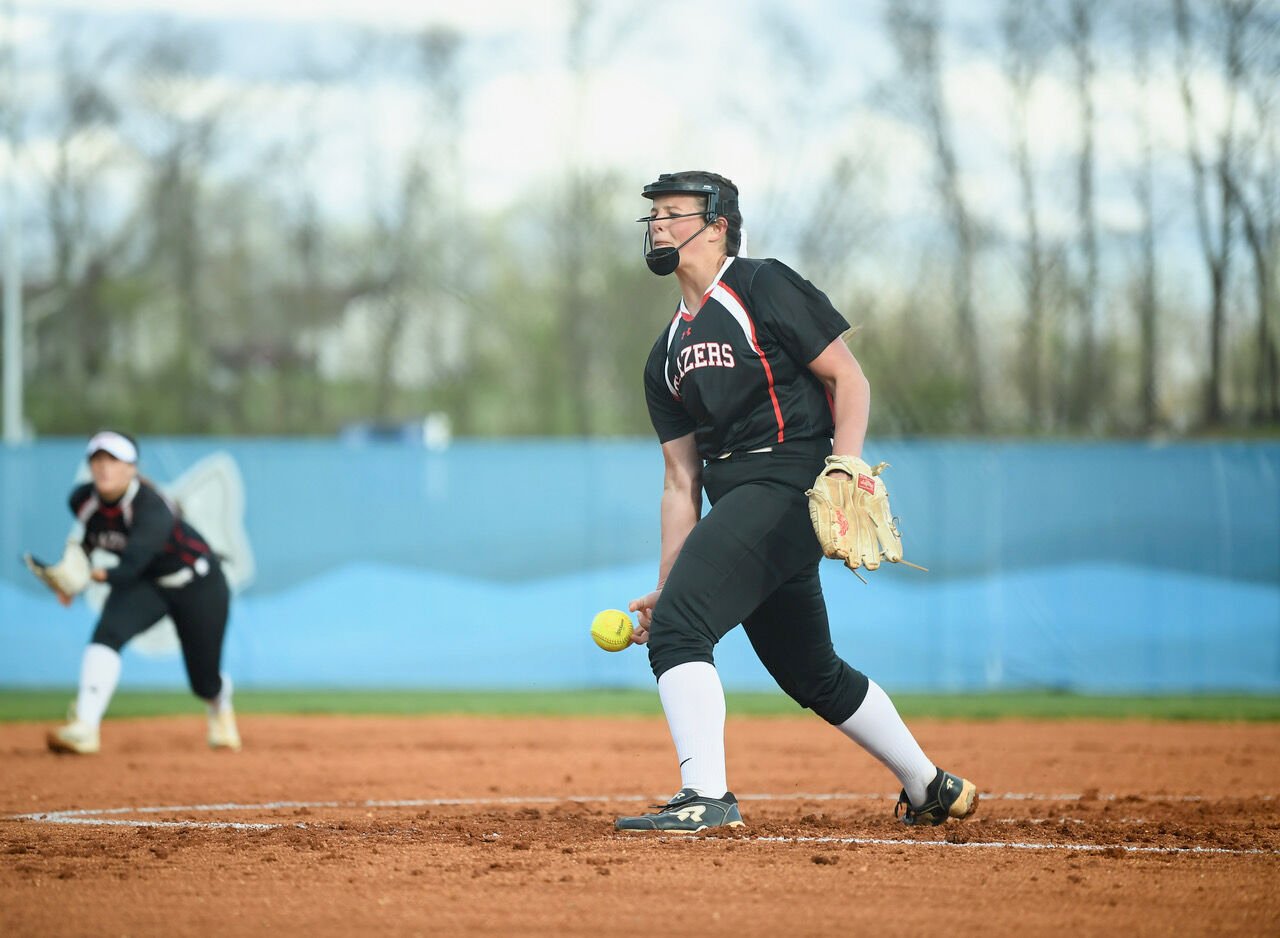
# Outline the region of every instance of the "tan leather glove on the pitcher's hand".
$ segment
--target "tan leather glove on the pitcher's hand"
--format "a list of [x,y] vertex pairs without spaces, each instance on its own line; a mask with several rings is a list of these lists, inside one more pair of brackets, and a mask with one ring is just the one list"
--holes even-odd
[[[887,462],[872,468],[856,456],[828,456],[813,488],[805,493],[822,553],[844,560],[854,573],[859,567],[878,568],[882,557],[891,563],[902,560],[902,536],[879,479],[886,468]],[[835,471],[850,477],[832,476]]]

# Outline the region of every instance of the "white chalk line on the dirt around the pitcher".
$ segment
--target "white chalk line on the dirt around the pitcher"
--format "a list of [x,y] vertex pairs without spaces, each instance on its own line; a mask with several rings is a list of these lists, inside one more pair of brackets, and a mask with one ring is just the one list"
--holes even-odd
[[[790,795],[776,793],[750,793],[742,795],[742,801],[886,801],[892,795],[883,792],[792,792]],[[1197,802],[1204,797],[1199,795],[1178,796],[1143,796],[1143,800]],[[1119,795],[1080,795],[1062,793],[1047,795],[1039,792],[983,792],[983,801],[1121,801],[1132,800],[1133,796]],[[108,815],[120,814],[193,814],[212,811],[276,811],[284,809],[325,809],[325,807],[493,807],[509,805],[556,805],[563,802],[589,804],[596,801],[653,801],[648,795],[543,795],[543,796],[509,796],[500,799],[396,799],[396,800],[365,800],[365,801],[265,801],[260,804],[223,802],[207,805],[137,805],[131,807],[77,807],[61,811],[29,811],[27,814],[14,814],[9,820],[28,820],[45,824],[84,824],[95,827],[134,827],[134,828],[197,828],[197,829],[228,829],[228,831],[273,831],[279,828],[306,829],[305,822],[296,823],[248,823],[248,822],[220,822],[220,820],[140,820],[134,818],[116,819]],[[1262,796],[1260,801],[1271,801],[1274,796]],[[1075,818],[998,818],[997,823],[1084,823]],[[1121,819],[1125,823],[1144,823],[1140,818]],[[500,834],[486,836],[485,839],[498,839]],[[659,836],[657,838],[669,841],[671,837]],[[677,836],[677,841],[687,841],[687,837]],[[707,836],[696,839],[721,839]],[[751,836],[746,838],[755,843],[831,843],[847,846],[899,846],[899,847],[969,847],[987,850],[1061,850],[1074,852],[1102,852],[1123,851],[1125,854],[1184,854],[1184,855],[1228,855],[1228,856],[1271,856],[1280,855],[1280,850],[1265,848],[1233,848],[1233,847],[1156,847],[1134,846],[1125,843],[1037,843],[1030,841],[914,841],[895,839],[887,837],[778,837],[778,836]]]

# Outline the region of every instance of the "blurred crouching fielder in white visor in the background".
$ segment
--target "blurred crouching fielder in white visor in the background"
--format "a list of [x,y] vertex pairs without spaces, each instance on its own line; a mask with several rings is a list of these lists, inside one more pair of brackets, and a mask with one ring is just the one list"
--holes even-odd
[[[27,562],[63,605],[90,581],[110,594],[81,659],[79,692],[65,726],[49,731],[56,752],[100,749],[100,724],[120,678],[120,649],[169,616],[182,644],[192,692],[205,701],[212,749],[239,750],[232,682],[220,672],[230,591],[218,554],[148,480],[138,475],[138,444],[104,430],[86,449],[93,481],[70,494],[77,526],[63,558],[49,567]],[[110,568],[91,568],[95,549],[119,555]]]

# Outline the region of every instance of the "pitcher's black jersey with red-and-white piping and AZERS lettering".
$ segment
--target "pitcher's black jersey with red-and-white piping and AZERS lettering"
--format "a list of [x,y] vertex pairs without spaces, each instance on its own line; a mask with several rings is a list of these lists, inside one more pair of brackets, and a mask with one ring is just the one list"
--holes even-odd
[[809,370],[849,322],[827,294],[773,258],[730,257],[691,314],[680,301],[645,365],[662,443],[695,434],[698,453],[831,438],[831,397]]

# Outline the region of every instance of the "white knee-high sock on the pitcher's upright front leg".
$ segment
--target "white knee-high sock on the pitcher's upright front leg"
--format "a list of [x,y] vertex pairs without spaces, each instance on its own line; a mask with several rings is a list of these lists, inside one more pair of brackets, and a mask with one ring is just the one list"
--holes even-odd
[[716,665],[677,664],[658,678],[658,696],[680,759],[680,787],[724,797],[724,688]]

